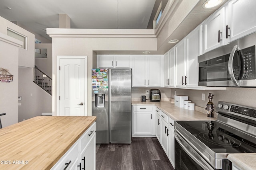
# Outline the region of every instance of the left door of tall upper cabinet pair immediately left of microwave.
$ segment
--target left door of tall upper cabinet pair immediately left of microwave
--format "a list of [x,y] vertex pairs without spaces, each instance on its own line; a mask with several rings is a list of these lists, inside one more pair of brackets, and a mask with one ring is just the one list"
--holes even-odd
[[176,87],[185,87],[185,40],[176,45]]

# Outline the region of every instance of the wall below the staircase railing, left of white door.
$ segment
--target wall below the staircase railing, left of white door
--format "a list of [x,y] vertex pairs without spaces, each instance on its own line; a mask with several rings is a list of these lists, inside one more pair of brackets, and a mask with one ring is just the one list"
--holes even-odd
[[33,68],[19,68],[19,100],[18,121],[40,116],[43,112],[52,112],[52,96],[35,84],[32,80]]

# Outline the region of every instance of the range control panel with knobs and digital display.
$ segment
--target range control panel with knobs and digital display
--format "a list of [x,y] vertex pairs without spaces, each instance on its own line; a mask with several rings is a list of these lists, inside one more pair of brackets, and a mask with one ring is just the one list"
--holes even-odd
[[229,113],[229,114],[239,115],[247,119],[256,120],[256,108],[249,107],[249,106],[241,106],[238,104],[230,104],[227,102],[219,101],[216,111],[222,114]]

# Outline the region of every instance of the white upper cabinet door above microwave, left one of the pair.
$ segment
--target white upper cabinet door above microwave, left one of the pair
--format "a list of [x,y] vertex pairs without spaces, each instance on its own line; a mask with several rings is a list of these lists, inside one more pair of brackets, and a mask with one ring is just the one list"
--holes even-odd
[[225,44],[225,7],[208,18],[203,24],[203,52]]

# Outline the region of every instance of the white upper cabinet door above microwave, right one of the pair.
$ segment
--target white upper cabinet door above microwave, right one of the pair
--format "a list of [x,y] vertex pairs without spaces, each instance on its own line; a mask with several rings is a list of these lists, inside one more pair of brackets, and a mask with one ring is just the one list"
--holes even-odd
[[228,3],[229,42],[256,31],[256,0],[232,0]]

